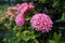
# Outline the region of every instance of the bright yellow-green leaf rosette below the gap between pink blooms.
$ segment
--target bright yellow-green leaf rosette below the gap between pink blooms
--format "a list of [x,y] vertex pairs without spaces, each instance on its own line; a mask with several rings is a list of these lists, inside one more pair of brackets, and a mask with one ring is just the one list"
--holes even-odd
[[26,31],[23,31],[22,39],[24,41],[28,41],[30,39],[35,39],[35,34],[34,34],[34,32],[30,32],[30,31],[26,30]]

